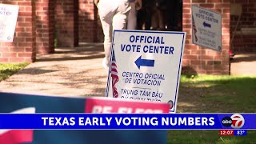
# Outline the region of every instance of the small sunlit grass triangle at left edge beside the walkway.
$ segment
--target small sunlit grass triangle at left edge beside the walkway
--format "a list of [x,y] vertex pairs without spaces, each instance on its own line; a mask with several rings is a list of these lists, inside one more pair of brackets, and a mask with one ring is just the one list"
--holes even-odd
[[22,70],[27,65],[29,65],[28,62],[6,64],[0,63],[0,82],[6,78],[9,78],[10,75],[17,73],[18,70]]

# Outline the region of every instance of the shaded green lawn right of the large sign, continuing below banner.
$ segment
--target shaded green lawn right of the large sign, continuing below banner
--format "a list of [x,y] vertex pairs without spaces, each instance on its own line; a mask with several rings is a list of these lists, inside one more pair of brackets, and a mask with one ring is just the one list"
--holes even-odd
[[[255,113],[256,77],[182,75],[178,113]],[[256,130],[245,137],[220,137],[218,130],[169,130],[168,143],[256,143]]]

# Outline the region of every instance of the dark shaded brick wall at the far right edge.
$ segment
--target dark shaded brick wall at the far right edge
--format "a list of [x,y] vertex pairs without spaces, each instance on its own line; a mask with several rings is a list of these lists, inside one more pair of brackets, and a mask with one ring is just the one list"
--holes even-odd
[[[238,25],[237,33],[234,36],[234,40],[231,45],[231,50],[233,50],[235,53],[256,52],[256,1],[230,0],[230,3],[242,6],[242,17]],[[231,34],[234,34],[234,27],[236,26],[237,22],[238,16],[231,15]],[[241,28],[244,30],[242,30]],[[247,28],[247,30],[245,30],[245,28]]]

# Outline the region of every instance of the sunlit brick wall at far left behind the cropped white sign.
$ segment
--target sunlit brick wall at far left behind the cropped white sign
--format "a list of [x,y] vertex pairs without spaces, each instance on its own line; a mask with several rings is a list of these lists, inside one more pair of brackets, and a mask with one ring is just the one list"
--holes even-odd
[[0,42],[0,62],[34,62],[36,56],[34,1],[2,0],[0,3],[20,6],[14,42]]

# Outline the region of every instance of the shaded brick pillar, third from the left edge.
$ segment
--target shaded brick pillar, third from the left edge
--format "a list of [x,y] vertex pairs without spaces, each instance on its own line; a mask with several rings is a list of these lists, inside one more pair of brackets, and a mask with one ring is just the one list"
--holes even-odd
[[[78,1],[57,0],[55,23],[58,46],[78,46]],[[75,28],[76,27],[76,28]]]

